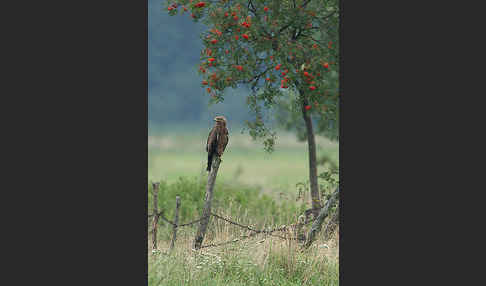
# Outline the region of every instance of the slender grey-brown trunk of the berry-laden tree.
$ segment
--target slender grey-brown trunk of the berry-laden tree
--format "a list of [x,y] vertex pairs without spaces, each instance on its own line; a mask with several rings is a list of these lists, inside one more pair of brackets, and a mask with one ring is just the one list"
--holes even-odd
[[[299,91],[302,98],[304,95]],[[306,98],[302,100],[302,116],[305,121],[307,131],[307,146],[309,147],[309,182],[311,189],[312,213],[317,217],[319,209],[321,208],[321,200],[319,198],[319,185],[317,184],[317,155],[316,155],[316,139],[314,130],[312,128],[312,120],[310,114],[305,109],[309,102]]]

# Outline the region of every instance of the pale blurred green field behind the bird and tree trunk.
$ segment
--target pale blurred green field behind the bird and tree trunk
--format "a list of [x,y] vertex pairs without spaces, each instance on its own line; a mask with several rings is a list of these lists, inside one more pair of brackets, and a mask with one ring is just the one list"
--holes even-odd
[[[149,181],[173,182],[178,177],[206,174],[208,133],[208,130],[199,129],[191,134],[177,132],[149,136]],[[297,142],[293,134],[279,132],[278,135],[275,151],[269,154],[248,134],[230,131],[218,180],[237,180],[279,192],[293,190],[297,182],[308,180],[306,142]],[[321,137],[316,140],[318,156],[327,154],[338,164],[338,144]],[[323,170],[322,167],[320,170]]]

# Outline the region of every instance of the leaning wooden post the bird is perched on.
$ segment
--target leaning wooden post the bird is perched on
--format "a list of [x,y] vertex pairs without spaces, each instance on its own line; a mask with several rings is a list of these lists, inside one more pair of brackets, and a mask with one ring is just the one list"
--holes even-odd
[[202,220],[197,229],[196,238],[194,239],[194,248],[201,248],[206,230],[209,224],[209,218],[211,216],[211,201],[213,200],[214,183],[216,182],[216,176],[218,175],[219,163],[221,159],[218,156],[214,156],[214,161],[211,166],[211,172],[208,176],[208,184],[206,186],[206,202],[204,203],[204,209],[202,213]]

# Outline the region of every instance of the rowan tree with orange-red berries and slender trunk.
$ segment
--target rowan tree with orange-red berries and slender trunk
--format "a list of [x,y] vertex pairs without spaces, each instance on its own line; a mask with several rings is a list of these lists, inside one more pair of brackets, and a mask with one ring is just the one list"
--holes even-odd
[[[317,184],[318,131],[338,130],[338,0],[168,1],[170,15],[187,14],[209,29],[202,33],[199,72],[211,102],[227,88],[251,89],[247,104],[255,114],[246,122],[253,138],[272,150],[276,133],[264,123],[264,109],[284,102],[305,122],[309,147],[312,208],[320,208]],[[280,104],[277,104],[280,102]],[[334,123],[334,125],[330,123]],[[325,128],[323,128],[323,126]]]

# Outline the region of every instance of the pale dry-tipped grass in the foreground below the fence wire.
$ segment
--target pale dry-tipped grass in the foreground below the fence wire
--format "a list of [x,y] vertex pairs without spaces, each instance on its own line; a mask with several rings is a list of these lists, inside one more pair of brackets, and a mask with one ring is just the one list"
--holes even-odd
[[[244,218],[251,220],[251,218]],[[229,224],[212,227],[204,244],[231,241],[246,234]],[[149,285],[338,285],[338,234],[319,238],[301,252],[293,241],[257,235],[224,246],[192,250],[193,232],[178,233],[175,249],[159,241],[149,253]]]

